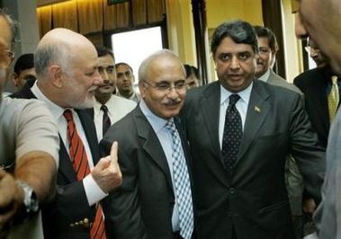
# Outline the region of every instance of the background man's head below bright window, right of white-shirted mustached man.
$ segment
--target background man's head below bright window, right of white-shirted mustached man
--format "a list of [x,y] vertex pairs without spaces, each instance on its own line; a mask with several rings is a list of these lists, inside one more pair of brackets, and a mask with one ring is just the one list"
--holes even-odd
[[127,98],[134,102],[139,102],[141,95],[134,90],[135,76],[132,68],[124,62],[115,65],[117,75],[118,96]]

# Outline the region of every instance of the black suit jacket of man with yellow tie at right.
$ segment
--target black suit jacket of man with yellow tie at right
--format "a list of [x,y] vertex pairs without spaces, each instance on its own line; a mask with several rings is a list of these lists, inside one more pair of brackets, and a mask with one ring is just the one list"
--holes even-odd
[[327,87],[328,69],[314,68],[293,80],[305,95],[305,104],[311,125],[318,132],[322,146],[327,146],[330,128]]

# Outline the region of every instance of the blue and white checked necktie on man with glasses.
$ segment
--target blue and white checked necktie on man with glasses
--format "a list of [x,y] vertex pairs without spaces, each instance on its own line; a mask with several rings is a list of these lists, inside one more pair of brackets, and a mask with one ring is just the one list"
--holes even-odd
[[193,202],[188,168],[175,123],[169,120],[165,127],[171,132],[173,139],[173,175],[175,199],[179,207],[180,235],[184,239],[190,239],[193,234]]

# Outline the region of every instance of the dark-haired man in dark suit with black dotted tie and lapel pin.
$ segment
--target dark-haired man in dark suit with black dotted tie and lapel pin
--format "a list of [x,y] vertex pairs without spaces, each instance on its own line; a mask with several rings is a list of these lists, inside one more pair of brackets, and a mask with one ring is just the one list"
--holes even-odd
[[187,93],[199,238],[294,238],[284,180],[289,153],[320,200],[325,152],[301,95],[256,80],[257,51],[249,23],[223,22],[211,41],[219,81]]

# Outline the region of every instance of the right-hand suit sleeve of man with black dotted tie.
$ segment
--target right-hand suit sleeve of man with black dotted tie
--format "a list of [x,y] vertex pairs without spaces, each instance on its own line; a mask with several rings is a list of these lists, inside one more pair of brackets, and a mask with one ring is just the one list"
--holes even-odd
[[326,171],[325,149],[319,145],[317,133],[313,130],[299,94],[292,102],[291,116],[292,156],[303,176],[308,193],[319,204],[321,186]]

